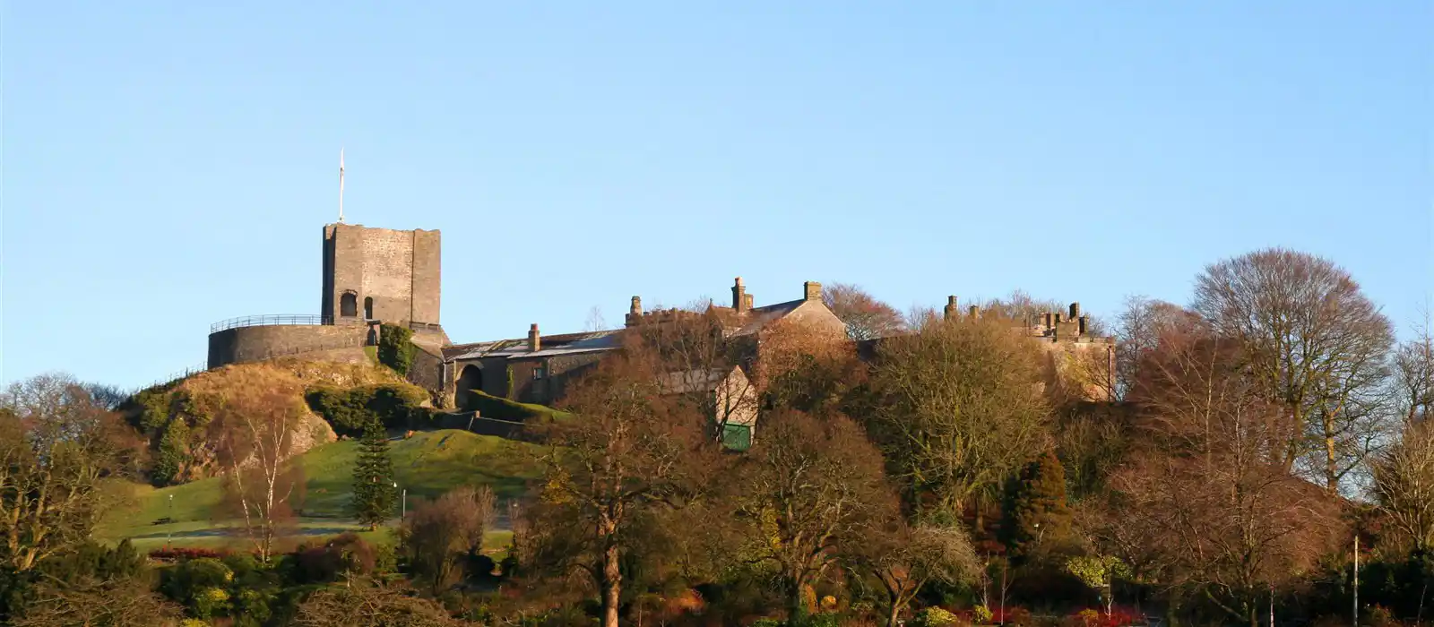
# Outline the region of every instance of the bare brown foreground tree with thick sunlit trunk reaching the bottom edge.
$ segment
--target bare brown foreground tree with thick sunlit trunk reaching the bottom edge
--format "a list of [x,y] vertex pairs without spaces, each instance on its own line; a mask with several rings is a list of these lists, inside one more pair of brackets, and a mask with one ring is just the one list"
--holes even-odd
[[[622,555],[642,508],[675,500],[704,468],[703,417],[663,394],[660,359],[628,346],[579,379],[564,401],[574,419],[541,427],[552,451],[543,501],[575,533],[558,551],[587,571],[602,597],[604,627],[618,626]],[[710,448],[710,447],[706,447]]]

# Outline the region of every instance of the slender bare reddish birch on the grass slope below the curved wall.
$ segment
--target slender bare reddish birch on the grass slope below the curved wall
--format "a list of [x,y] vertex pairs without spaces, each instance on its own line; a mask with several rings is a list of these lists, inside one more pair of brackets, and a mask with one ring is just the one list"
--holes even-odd
[[222,467],[228,501],[244,533],[268,563],[281,525],[303,504],[303,465],[291,462],[308,409],[297,382],[235,371],[224,394],[195,397],[214,415],[209,441]]

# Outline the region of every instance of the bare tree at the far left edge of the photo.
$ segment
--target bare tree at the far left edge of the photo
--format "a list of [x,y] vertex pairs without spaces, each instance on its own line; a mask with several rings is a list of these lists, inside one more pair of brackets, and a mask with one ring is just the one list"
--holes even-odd
[[122,421],[66,375],[39,375],[0,395],[0,534],[19,571],[89,538],[119,498]]

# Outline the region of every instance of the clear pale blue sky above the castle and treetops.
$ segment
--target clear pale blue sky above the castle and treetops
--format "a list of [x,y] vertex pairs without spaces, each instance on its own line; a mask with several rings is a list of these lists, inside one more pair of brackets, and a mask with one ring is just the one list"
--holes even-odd
[[1434,3],[694,6],[4,1],[0,379],[317,314],[340,146],[457,342],[739,275],[1111,315],[1269,245],[1428,306]]

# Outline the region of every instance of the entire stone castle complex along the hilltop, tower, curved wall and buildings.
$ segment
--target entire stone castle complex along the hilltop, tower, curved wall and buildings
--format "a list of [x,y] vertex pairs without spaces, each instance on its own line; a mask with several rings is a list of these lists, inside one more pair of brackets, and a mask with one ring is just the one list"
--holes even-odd
[[[440,262],[437,230],[326,225],[318,314],[255,315],[217,322],[209,329],[208,368],[281,356],[366,362],[364,346],[377,344],[381,325],[400,325],[413,329],[417,348],[409,379],[433,392],[437,405],[463,411],[472,408],[473,389],[513,401],[551,404],[562,395],[568,381],[617,348],[621,329],[542,335],[536,324],[525,336],[453,344],[439,319]],[[728,336],[756,336],[779,321],[845,329],[822,301],[822,285],[816,282],[803,283],[800,298],[757,306],[737,278],[731,296],[730,308],[713,305],[730,321]],[[956,296],[949,296],[944,314],[946,318],[977,316],[979,309],[971,306],[962,312]],[[675,315],[680,312],[645,312],[641,299],[632,296],[625,326]],[[1114,372],[1114,342],[1086,332],[1087,318],[1080,303],[1071,303],[1068,312],[1017,321],[1015,326],[1048,342],[1053,351],[1101,351],[1107,374]],[[737,368],[697,376],[700,385],[718,389],[744,374]]]

